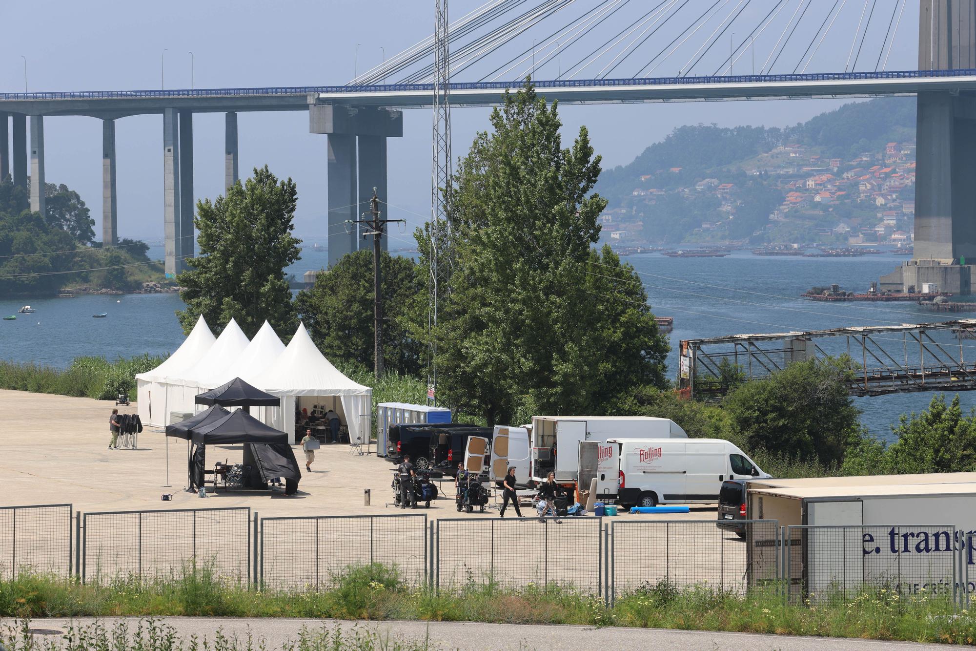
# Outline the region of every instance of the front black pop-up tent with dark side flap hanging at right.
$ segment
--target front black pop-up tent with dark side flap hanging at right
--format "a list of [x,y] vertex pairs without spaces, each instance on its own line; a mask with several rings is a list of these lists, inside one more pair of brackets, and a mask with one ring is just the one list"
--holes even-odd
[[[220,408],[215,406],[211,409]],[[288,445],[288,435],[265,425],[250,413],[242,410],[228,412],[222,418],[191,427],[189,435],[194,446],[189,461],[191,487],[203,485],[206,446],[241,443],[244,444],[244,465],[252,468],[250,475],[244,478],[245,486],[260,489],[271,479],[281,477],[285,480],[286,494],[291,495],[298,490],[302,473],[295,452]]]

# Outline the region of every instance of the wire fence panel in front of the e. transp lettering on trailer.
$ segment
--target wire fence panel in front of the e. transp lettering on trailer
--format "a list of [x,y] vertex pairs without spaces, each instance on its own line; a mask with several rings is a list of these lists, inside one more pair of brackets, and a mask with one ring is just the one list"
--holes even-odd
[[786,550],[791,597],[846,596],[865,588],[955,594],[956,550],[964,537],[951,525],[787,527],[786,539],[800,540]]

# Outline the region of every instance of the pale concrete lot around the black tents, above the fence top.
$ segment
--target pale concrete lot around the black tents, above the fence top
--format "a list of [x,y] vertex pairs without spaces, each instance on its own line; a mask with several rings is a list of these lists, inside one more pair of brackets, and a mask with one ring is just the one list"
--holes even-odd
[[[373,455],[350,456],[346,445],[323,446],[315,453],[312,471],[305,473],[304,455],[296,448],[303,477],[299,494],[286,498],[265,492],[234,492],[200,499],[185,493],[186,444],[167,441],[161,430],[145,429],[138,450],[108,450],[110,401],[69,398],[0,390],[0,506],[71,502],[75,510],[136,510],[250,506],[263,517],[291,515],[382,515],[403,512],[385,506],[392,500],[392,464]],[[136,404],[120,407],[135,413]],[[240,446],[211,446],[207,467],[215,461],[241,459]],[[167,487],[166,484],[171,486]],[[364,491],[371,504],[364,505]],[[172,501],[160,496],[172,493]],[[437,499],[428,509],[430,518],[498,517],[490,508],[484,515],[458,513],[454,506],[453,480],[444,482],[448,499]],[[523,508],[529,514],[531,509]],[[509,511],[510,512],[510,511]],[[713,520],[714,507],[695,506],[688,514],[625,515],[621,519]]]

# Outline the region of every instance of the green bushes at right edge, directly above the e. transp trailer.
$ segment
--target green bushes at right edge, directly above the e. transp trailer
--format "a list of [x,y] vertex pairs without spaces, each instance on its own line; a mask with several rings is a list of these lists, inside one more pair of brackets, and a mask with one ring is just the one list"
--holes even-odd
[[939,394],[927,410],[903,413],[892,432],[898,437],[890,446],[866,439],[844,458],[841,471],[851,475],[968,472],[976,469],[976,412],[968,416],[959,408],[959,397],[946,404]]

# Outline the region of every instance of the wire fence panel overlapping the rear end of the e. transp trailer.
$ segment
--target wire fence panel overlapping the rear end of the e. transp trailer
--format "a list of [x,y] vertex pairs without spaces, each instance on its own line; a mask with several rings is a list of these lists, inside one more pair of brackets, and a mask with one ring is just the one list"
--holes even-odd
[[718,527],[714,520],[614,522],[608,532],[611,601],[655,586],[744,592],[758,581],[772,580],[777,525],[776,520],[737,520],[737,532]]

